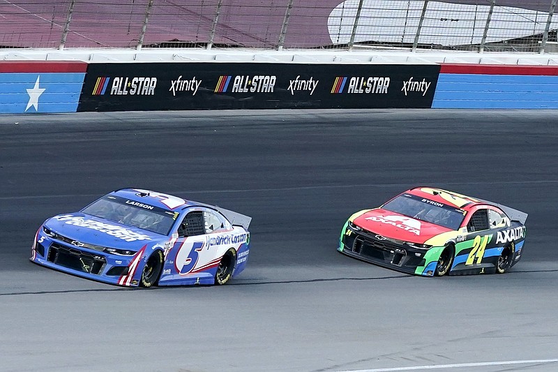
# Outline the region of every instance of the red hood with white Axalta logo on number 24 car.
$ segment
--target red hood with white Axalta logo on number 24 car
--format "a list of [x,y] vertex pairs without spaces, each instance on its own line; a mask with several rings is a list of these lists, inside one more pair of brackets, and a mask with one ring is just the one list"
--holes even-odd
[[372,209],[354,219],[353,223],[365,230],[391,239],[424,244],[431,237],[452,231],[415,218],[403,216],[386,209]]

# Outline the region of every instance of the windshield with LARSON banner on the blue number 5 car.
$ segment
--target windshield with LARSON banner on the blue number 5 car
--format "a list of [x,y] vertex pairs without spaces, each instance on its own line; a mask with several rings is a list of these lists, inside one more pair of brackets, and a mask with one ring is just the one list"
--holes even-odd
[[82,209],[82,212],[163,235],[169,235],[179,215],[177,212],[114,195],[100,198]]

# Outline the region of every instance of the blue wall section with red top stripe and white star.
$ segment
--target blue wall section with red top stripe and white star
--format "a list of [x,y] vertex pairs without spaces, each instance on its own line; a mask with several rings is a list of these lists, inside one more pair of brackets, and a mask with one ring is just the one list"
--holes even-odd
[[0,113],[76,112],[83,62],[0,63]]

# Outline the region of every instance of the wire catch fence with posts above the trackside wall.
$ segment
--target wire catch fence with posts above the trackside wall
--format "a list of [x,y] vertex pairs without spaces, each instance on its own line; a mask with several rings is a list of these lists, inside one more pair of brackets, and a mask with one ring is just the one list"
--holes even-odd
[[558,52],[557,0],[11,0],[1,47]]

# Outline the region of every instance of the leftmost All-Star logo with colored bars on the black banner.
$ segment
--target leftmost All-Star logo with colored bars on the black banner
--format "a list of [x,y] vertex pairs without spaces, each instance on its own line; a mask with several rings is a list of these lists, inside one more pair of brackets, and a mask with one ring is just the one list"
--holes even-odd
[[[110,77],[97,77],[93,96],[105,94]],[[114,77],[110,87],[112,96],[153,96],[157,86],[157,77]]]

